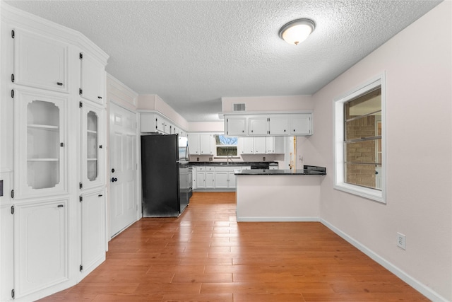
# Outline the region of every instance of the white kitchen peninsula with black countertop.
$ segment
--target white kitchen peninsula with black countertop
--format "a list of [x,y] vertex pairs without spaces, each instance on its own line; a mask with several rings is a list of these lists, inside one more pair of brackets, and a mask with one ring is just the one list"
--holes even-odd
[[323,167],[235,170],[237,221],[319,221]]

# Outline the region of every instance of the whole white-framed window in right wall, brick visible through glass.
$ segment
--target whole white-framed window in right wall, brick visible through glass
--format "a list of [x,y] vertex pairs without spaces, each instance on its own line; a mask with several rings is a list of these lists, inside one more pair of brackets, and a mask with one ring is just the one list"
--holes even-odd
[[383,76],[335,100],[335,189],[385,202]]

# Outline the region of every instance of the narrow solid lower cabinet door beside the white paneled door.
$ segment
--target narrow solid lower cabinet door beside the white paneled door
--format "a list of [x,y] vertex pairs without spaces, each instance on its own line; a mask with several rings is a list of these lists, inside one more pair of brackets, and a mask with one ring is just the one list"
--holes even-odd
[[82,276],[105,260],[105,197],[102,190],[82,194],[81,265]]

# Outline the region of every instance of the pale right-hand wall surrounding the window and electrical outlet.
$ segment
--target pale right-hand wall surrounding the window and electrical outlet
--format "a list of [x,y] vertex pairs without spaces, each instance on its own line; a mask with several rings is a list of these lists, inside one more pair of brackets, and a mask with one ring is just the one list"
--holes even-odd
[[[316,117],[331,118],[316,118],[303,146],[305,162],[329,170],[321,219],[434,301],[452,300],[451,19],[444,1],[313,95]],[[383,71],[387,204],[333,190],[333,99]]]

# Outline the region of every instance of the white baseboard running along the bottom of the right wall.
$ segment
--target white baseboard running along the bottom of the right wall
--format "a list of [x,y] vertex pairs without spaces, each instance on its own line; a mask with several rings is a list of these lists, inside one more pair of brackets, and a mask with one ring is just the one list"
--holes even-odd
[[340,229],[336,228],[335,226],[333,226],[331,223],[329,223],[325,219],[320,219],[319,221],[324,226],[329,228],[331,231],[336,233],[338,236],[340,236],[343,239],[345,239],[348,243],[353,245],[358,250],[364,252],[364,254],[366,254],[367,256],[371,257],[372,260],[374,260],[375,262],[379,263],[379,265],[383,266],[384,268],[388,269],[389,272],[392,272],[393,274],[395,274],[397,277],[399,277],[400,279],[405,281],[405,283],[407,283],[410,286],[412,286],[413,289],[416,289],[417,291],[419,291],[421,294],[423,294],[424,296],[426,296],[430,300],[435,301],[435,302],[448,302],[448,300],[446,298],[444,298],[443,296],[441,296],[438,293],[436,293],[436,291],[433,291],[432,289],[430,289],[426,285],[422,284],[417,279],[411,277],[409,274],[404,272],[402,269],[396,267],[396,265],[393,265],[391,262],[388,262],[383,257],[377,255],[375,252],[373,252],[372,250],[370,250],[366,246],[362,245],[361,243],[359,243],[354,238],[348,236],[343,231],[340,231]]

